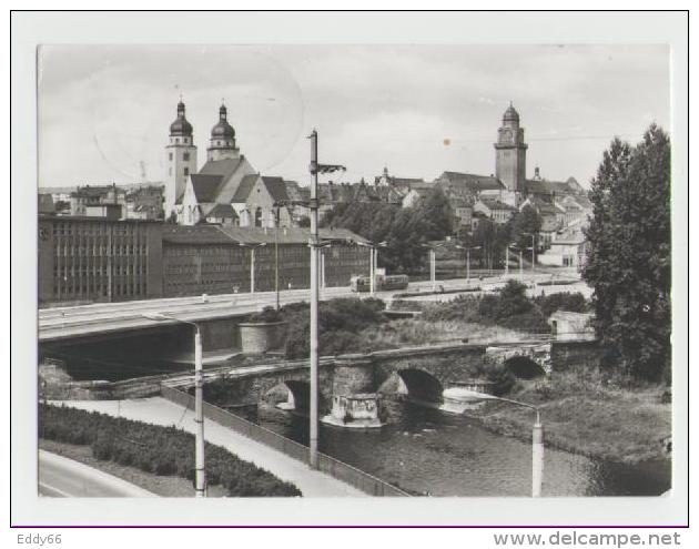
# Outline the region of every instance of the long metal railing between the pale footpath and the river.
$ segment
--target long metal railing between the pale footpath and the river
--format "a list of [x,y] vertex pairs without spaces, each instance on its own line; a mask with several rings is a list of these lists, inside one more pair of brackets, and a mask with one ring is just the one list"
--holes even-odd
[[[184,406],[189,409],[194,409],[194,397],[188,393],[169,387],[165,384],[161,385],[160,393],[163,398],[172,403],[179,404],[180,406]],[[274,448],[293,459],[304,462],[308,459],[308,448],[306,446],[283,437],[273,430],[265,429],[252,421],[247,421],[246,419],[219,408],[217,406],[204,403],[204,417],[223,425],[224,427],[229,427],[252,440]],[[330,475],[337,480],[342,480],[343,482],[346,482],[350,486],[353,486],[354,488],[372,496],[409,496],[409,494],[386,482],[385,480],[321,453],[318,453],[318,469],[326,475]]]

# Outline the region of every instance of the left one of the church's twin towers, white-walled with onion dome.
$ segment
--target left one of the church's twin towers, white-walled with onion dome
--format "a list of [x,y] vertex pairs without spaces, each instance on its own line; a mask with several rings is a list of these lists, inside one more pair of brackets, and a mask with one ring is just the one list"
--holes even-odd
[[170,143],[165,148],[165,218],[175,201],[184,193],[191,173],[196,173],[196,146],[192,124],[184,116],[182,99],[178,103],[178,119],[170,124]]

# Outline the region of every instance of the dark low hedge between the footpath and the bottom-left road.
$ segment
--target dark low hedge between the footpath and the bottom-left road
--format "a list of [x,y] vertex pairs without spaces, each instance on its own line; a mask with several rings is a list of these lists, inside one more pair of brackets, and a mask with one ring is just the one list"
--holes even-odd
[[[194,478],[194,436],[97,411],[39,405],[39,437],[90,446],[97,459],[136,467],[154,475]],[[221,446],[206,443],[206,481],[231,497],[301,496],[294,485],[244,461]]]

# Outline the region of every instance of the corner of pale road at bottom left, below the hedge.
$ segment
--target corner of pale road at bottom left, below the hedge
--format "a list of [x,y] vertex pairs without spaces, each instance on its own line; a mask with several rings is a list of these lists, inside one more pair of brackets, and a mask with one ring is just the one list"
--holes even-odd
[[158,497],[121,478],[44,450],[39,450],[39,495],[54,498]]

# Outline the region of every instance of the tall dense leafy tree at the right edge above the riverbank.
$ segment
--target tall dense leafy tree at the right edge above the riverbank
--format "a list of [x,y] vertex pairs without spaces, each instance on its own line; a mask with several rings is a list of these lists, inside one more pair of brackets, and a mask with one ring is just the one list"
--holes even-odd
[[589,193],[594,217],[584,278],[607,365],[629,378],[669,370],[670,140],[652,124],[636,146],[615,139]]

